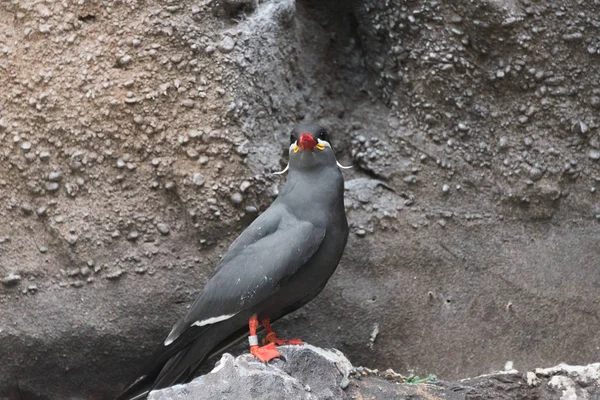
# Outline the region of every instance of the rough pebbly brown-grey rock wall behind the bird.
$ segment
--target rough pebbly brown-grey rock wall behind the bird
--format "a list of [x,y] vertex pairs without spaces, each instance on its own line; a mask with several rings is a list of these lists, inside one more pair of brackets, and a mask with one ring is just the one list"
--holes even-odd
[[352,233],[282,336],[445,379],[598,361],[599,14],[1,2],[0,278],[20,280],[0,285],[0,396],[133,378],[278,193],[304,118],[354,166]]

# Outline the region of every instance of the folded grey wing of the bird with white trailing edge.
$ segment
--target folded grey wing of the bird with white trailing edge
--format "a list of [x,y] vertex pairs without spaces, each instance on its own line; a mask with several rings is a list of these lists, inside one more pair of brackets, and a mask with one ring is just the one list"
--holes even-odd
[[207,327],[269,298],[318,250],[325,227],[269,208],[232,243],[202,295],[165,340],[170,344],[192,326]]

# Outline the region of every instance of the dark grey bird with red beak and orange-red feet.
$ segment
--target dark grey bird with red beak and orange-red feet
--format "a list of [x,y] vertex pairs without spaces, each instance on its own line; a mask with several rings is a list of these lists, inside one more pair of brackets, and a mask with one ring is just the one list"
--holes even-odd
[[[328,131],[315,122],[290,134],[286,182],[277,198],[228,248],[204,290],[171,329],[143,373],[116,400],[193,378],[198,367],[248,336],[262,362],[280,357],[271,323],[307,304],[325,287],[348,241],[344,178]],[[260,325],[266,337],[259,346]]]

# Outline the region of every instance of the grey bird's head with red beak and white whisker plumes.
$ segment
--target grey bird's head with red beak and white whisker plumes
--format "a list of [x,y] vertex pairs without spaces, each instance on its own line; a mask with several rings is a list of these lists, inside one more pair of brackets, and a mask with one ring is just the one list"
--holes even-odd
[[337,162],[331,147],[329,134],[325,128],[314,122],[302,123],[294,128],[290,134],[290,161],[288,167],[313,169],[335,165],[341,168],[349,168],[343,167]]

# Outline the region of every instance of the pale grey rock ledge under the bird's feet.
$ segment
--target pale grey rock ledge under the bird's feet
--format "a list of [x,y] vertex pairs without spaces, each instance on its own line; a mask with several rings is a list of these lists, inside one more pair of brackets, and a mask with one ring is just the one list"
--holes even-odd
[[[285,361],[224,354],[210,373],[153,391],[149,400],[588,400],[600,398],[600,363],[511,369],[457,381],[404,377],[393,370],[354,368],[337,350],[280,347]],[[412,382],[412,383],[410,383]],[[426,383],[423,383],[426,382]]]

